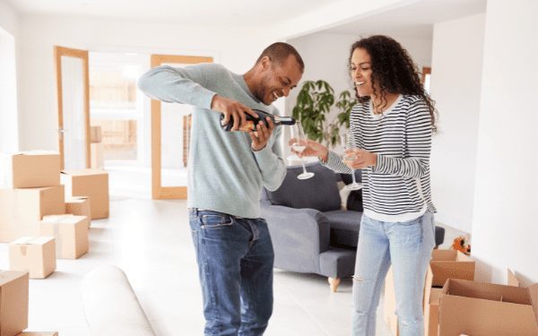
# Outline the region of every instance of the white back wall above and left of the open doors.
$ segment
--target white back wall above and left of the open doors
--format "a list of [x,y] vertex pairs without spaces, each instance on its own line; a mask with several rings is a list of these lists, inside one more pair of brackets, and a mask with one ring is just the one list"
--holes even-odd
[[[243,73],[273,40],[256,30],[220,30],[150,22],[23,16],[20,39],[21,148],[57,150],[53,46],[90,51],[213,56]],[[149,133],[147,142],[149,142]]]

